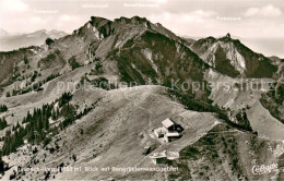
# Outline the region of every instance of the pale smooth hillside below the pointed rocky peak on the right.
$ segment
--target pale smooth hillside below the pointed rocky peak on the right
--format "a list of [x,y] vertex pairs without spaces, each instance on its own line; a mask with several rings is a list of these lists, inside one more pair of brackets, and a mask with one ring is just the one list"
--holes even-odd
[[[273,80],[232,79],[214,70],[206,72],[205,80],[221,83],[218,88],[211,90],[209,98],[213,100],[213,105],[223,108],[230,116],[246,112],[252,130],[258,132],[260,137],[275,141],[284,138],[281,119],[273,117],[274,109],[269,109],[269,112],[260,102],[261,97],[269,94],[269,83],[274,82]],[[261,85],[261,82],[264,83]],[[234,120],[238,122],[237,119]]]

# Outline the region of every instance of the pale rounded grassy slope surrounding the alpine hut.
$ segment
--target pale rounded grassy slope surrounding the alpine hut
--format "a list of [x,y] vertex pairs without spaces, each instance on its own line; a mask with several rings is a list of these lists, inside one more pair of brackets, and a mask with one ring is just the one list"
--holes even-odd
[[[159,152],[163,149],[181,149],[185,145],[206,133],[217,121],[212,113],[185,110],[184,106],[173,101],[165,94],[165,88],[159,86],[139,86],[135,89],[126,88],[110,92],[78,92],[71,104],[90,105],[90,101],[95,101],[99,97],[103,97],[103,99],[87,116],[52,138],[47,147],[55,147],[55,143],[59,145],[55,154],[50,154],[48,149],[39,148],[34,158],[29,157],[29,159],[39,160],[38,164],[33,164],[33,167],[57,167],[61,162],[64,162],[64,165],[69,162],[75,167],[127,167],[140,162],[141,167],[155,167],[149,157],[142,155],[142,152],[147,144],[161,145],[151,136],[153,136],[152,130],[161,126],[164,119],[180,114],[184,118],[181,122],[187,131],[180,141],[173,145],[166,145],[166,147],[159,147]],[[88,100],[88,102],[85,100]],[[200,122],[200,120],[202,121]],[[80,133],[81,130],[83,130],[83,134]],[[198,130],[198,132],[193,130]],[[126,145],[128,146],[126,147]],[[47,155],[46,158],[44,157],[45,154]],[[78,160],[75,162],[69,158],[72,154],[76,155]],[[43,162],[44,158],[45,161]],[[19,161],[19,159],[22,159],[22,156],[12,154],[11,160],[8,162],[11,166],[13,164],[26,164]],[[24,178],[28,176],[43,178],[44,176],[43,172],[27,174]],[[56,174],[57,179],[123,177],[123,172],[57,172],[52,174]],[[141,174],[138,179],[143,177],[144,174]],[[164,176],[157,177],[164,178]]]

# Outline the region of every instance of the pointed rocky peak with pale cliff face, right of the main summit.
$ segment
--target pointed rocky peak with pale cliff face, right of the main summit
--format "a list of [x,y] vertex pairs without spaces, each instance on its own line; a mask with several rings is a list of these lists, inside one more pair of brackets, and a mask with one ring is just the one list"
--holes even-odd
[[200,39],[191,49],[204,62],[233,77],[272,77],[277,70],[267,57],[253,52],[238,39],[232,39],[229,34],[218,39]]

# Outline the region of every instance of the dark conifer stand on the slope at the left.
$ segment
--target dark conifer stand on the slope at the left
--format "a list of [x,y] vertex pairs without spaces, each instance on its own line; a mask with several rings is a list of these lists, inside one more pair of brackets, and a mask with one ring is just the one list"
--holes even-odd
[[[59,99],[51,104],[43,105],[40,108],[35,108],[33,113],[27,112],[21,125],[19,122],[12,131],[5,132],[1,155],[9,155],[23,145],[24,140],[32,144],[47,144],[50,141],[50,133],[57,133],[58,129],[64,129],[73,123],[76,118],[75,108],[69,102],[72,98],[70,93],[64,93]],[[56,102],[59,102],[59,108],[55,111]],[[59,128],[50,128],[49,119],[63,118]]]

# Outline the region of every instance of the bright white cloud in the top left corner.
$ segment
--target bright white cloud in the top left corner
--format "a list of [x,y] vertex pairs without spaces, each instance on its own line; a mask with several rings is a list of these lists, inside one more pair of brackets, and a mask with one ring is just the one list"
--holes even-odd
[[0,2],[1,11],[17,11],[23,12],[28,9],[28,5],[22,0],[3,0]]

